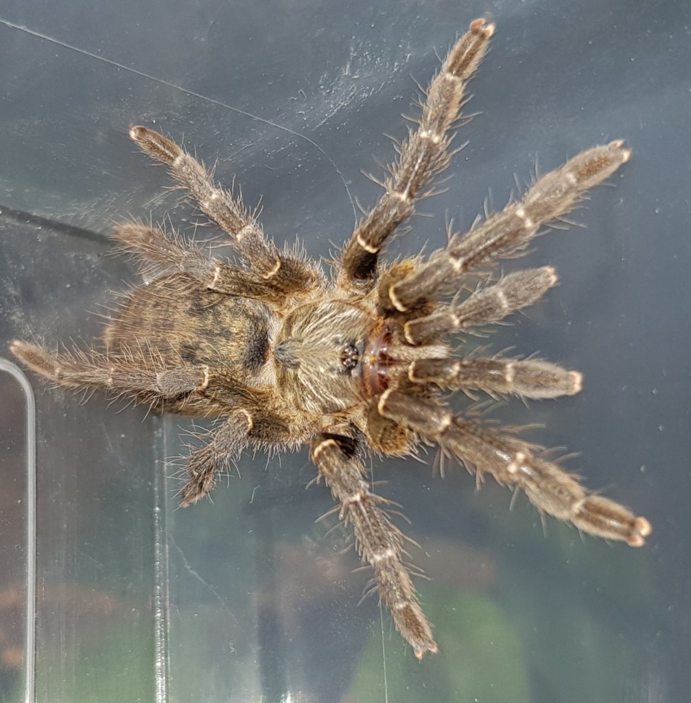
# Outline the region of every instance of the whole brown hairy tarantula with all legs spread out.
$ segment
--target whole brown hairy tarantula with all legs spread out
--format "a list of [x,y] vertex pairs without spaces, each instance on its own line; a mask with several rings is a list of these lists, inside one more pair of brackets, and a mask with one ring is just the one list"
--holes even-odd
[[131,138],[170,168],[200,209],[228,233],[243,259],[207,257],[179,236],[122,224],[115,238],[134,254],[150,283],[130,290],[110,320],[102,349],[54,353],[15,341],[26,366],[60,385],[103,389],[157,411],[218,418],[205,446],[190,451],[183,505],[209,494],[219,470],[248,444],[269,451],[311,446],[318,478],[352,525],[362,559],[373,568],[382,602],[422,658],[436,652],[403,561],[406,538],[386,501],[373,493],[363,452],[406,456],[436,443],[480,480],[522,489],[541,512],[584,532],[642,546],[650,523],[590,493],[509,430],[456,413],[444,391],[555,398],[581,389],[581,375],[548,361],[477,354],[456,356],[446,338],[503,320],[557,282],[544,266],[487,277],[461,295],[467,273],[526,247],[541,228],[569,212],[631,152],[621,140],[580,153],[541,176],[522,200],[455,233],[426,260],[379,259],[396,228],[430,195],[430,181],[453,155],[454,124],[468,80],[494,25],[475,20],[427,87],[416,129],[398,146],[384,193],[356,226],[329,280],[302,252],[264,238],[256,213],[217,186],[188,153],[146,127]]

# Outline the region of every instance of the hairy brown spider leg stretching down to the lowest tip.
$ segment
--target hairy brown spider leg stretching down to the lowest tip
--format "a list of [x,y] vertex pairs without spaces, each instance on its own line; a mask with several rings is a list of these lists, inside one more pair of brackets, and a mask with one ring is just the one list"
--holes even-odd
[[352,439],[321,434],[312,442],[311,456],[320,477],[340,501],[341,516],[353,526],[357,549],[374,569],[380,597],[396,628],[413,646],[418,659],[425,652],[437,652],[411,574],[403,563],[405,537],[380,508],[382,498],[370,491],[364,467],[354,456]]

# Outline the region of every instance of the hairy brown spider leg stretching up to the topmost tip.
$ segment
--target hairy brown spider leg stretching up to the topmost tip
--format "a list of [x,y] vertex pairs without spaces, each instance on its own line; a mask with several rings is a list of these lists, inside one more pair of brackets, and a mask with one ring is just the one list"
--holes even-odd
[[385,193],[360,221],[344,249],[339,279],[346,288],[362,291],[373,287],[380,250],[396,227],[411,217],[415,200],[426,194],[423,189],[432,176],[448,165],[448,130],[458,120],[465,86],[482,61],[493,32],[493,24],[474,20],[427,87],[418,129],[400,145],[399,158],[384,183]]

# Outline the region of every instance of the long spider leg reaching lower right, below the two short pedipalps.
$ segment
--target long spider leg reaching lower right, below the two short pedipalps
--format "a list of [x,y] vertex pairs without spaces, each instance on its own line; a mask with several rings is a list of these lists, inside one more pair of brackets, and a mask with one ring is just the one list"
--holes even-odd
[[423,437],[437,442],[482,477],[485,472],[503,485],[522,489],[538,510],[607,539],[640,547],[650,523],[623,505],[587,491],[556,463],[535,456],[535,447],[501,434],[448,408],[388,389],[380,396],[379,411]]

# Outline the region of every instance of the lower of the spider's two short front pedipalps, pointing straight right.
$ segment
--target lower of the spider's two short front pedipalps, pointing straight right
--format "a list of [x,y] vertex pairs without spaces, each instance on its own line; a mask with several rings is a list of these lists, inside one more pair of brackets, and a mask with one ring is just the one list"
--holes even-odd
[[581,390],[582,377],[542,359],[417,359],[408,366],[408,379],[425,385],[434,383],[449,389],[480,390],[490,395],[512,394],[545,399],[574,395]]

